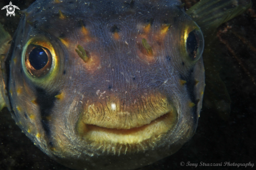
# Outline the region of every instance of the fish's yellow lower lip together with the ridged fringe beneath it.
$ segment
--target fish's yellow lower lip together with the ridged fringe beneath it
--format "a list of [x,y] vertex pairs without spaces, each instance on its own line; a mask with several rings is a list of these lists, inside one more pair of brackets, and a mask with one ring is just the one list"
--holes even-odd
[[108,154],[137,153],[153,149],[155,142],[174,129],[177,112],[170,111],[149,124],[130,129],[114,129],[79,122],[77,131],[85,141],[90,141],[93,148]]

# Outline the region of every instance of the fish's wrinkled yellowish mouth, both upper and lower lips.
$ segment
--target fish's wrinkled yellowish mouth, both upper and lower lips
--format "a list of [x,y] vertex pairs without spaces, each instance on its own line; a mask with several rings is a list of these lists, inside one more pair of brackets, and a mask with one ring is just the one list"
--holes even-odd
[[176,122],[175,107],[159,92],[130,98],[106,95],[85,102],[76,131],[86,141],[135,144],[168,132]]

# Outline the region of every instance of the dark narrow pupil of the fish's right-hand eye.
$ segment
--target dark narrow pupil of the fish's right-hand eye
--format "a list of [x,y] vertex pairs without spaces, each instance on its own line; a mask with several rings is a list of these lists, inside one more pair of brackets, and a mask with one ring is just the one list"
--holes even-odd
[[198,49],[198,42],[196,39],[195,30],[191,31],[188,34],[186,45],[187,52],[190,53],[192,56],[195,56]]

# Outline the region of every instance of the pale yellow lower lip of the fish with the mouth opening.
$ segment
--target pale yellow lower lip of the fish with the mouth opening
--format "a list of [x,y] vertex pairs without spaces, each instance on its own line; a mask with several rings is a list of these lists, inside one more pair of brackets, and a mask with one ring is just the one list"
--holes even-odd
[[100,127],[94,124],[86,124],[83,121],[77,123],[76,130],[85,141],[94,144],[141,144],[145,141],[155,142],[161,135],[166,134],[177,123],[176,110],[168,111],[148,124],[130,129],[115,129]]

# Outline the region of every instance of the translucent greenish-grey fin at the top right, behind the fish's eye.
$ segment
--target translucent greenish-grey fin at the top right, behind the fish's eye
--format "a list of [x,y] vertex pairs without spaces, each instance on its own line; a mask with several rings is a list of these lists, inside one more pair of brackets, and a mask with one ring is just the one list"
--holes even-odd
[[203,0],[186,11],[204,35],[209,35],[222,23],[242,14],[252,6],[250,0]]

